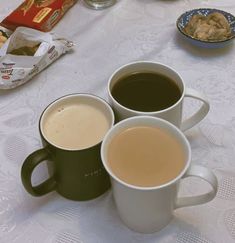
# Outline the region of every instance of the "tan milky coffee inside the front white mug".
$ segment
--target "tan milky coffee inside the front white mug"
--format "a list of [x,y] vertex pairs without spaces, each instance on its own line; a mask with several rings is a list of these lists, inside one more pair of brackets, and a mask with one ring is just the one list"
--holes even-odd
[[185,166],[182,146],[159,128],[136,126],[116,135],[108,147],[108,165],[126,183],[153,187],[176,178]]

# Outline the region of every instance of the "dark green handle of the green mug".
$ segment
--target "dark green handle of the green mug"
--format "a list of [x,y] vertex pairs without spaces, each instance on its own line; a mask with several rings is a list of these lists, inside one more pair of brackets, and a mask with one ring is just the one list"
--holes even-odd
[[56,188],[56,181],[52,177],[37,186],[32,185],[31,177],[35,167],[50,158],[50,153],[46,148],[39,149],[30,154],[24,161],[21,168],[21,180],[26,191],[33,196],[42,196]]

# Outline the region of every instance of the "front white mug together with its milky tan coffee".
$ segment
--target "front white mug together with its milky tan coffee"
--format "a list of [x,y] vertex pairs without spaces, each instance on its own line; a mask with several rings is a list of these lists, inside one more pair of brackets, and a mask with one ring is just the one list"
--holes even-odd
[[[150,128],[151,132],[157,129],[168,134],[171,141],[177,141],[177,146],[184,156],[177,162],[179,150],[171,149],[166,138],[155,137],[155,142],[161,139],[161,146],[157,146],[151,142],[153,137],[149,136],[148,132],[147,138],[143,136],[146,129],[144,133],[137,134],[136,128]],[[127,134],[125,140],[120,140],[123,134]],[[111,153],[115,155],[110,156]],[[159,153],[165,155],[160,158]],[[173,159],[169,159],[168,163],[166,158],[170,156]],[[103,140],[101,157],[111,178],[113,197],[120,218],[130,229],[137,232],[153,233],[161,230],[171,221],[175,209],[209,202],[218,190],[217,178],[209,168],[191,164],[191,148],[184,134],[160,118],[136,116],[117,123]],[[141,162],[137,162],[139,160]],[[159,180],[162,175],[165,177],[168,172],[175,172],[175,165],[179,162],[183,162],[183,166],[170,180],[168,178],[168,181],[155,186],[144,186],[150,182],[146,177],[154,178],[154,181]],[[203,179],[211,185],[211,191],[196,196],[178,197],[180,181],[186,177]]]

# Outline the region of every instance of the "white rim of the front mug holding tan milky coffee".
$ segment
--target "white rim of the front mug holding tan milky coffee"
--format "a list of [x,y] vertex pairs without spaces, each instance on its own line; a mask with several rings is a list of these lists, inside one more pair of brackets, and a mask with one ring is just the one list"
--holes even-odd
[[[156,124],[165,123],[168,127],[170,127],[171,130],[175,130],[178,133],[177,136],[180,136],[183,139],[183,141],[185,143],[185,147],[187,149],[188,157],[186,158],[185,165],[184,165],[183,169],[181,170],[181,172],[176,177],[174,177],[172,180],[170,180],[170,181],[168,181],[164,184],[158,185],[158,186],[150,186],[150,187],[136,186],[136,185],[129,184],[129,183],[123,181],[122,179],[117,177],[115,175],[115,173],[113,173],[113,171],[110,169],[110,167],[107,164],[107,159],[105,158],[105,155],[104,155],[104,149],[105,149],[105,147],[108,146],[106,141],[107,141],[108,137],[113,133],[113,131],[118,129],[118,127],[120,127],[123,123],[130,123],[132,120],[155,120]],[[127,128],[128,128],[128,126],[127,126]],[[141,191],[152,191],[152,190],[162,189],[162,188],[165,188],[167,186],[170,186],[183,177],[183,175],[185,174],[185,172],[187,171],[187,169],[189,168],[190,163],[191,163],[191,148],[190,148],[189,141],[185,137],[184,133],[179,128],[177,128],[175,125],[173,125],[172,123],[170,123],[170,122],[168,122],[168,121],[166,121],[162,118],[153,117],[153,116],[134,116],[134,117],[126,118],[126,119],[118,122],[112,128],[109,129],[109,131],[106,133],[106,135],[105,135],[105,137],[102,141],[102,144],[101,144],[101,160],[102,160],[103,166],[104,166],[105,170],[108,172],[108,174],[115,181],[119,182],[123,186],[126,186],[128,188],[132,188],[132,189],[136,189],[136,190],[141,190]]]

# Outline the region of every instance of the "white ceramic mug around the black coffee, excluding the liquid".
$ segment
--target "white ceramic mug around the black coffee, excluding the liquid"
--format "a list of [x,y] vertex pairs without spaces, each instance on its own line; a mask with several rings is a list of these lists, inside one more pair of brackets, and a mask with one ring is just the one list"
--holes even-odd
[[[155,112],[136,111],[121,105],[113,97],[112,88],[122,77],[135,72],[154,72],[169,77],[179,87],[181,91],[180,99],[174,105],[164,110],[155,111]],[[210,108],[209,102],[207,101],[205,96],[194,89],[186,88],[183,79],[175,70],[173,70],[172,68],[166,65],[156,63],[156,62],[148,62],[148,61],[133,62],[117,69],[109,79],[108,95],[109,95],[109,103],[113,107],[118,121],[132,116],[141,116],[141,115],[155,116],[171,122],[172,124],[179,127],[182,131],[185,131],[193,127],[197,123],[199,123],[207,115]],[[186,97],[190,97],[201,101],[202,106],[191,117],[187,118],[185,121],[182,121],[183,100]]]

